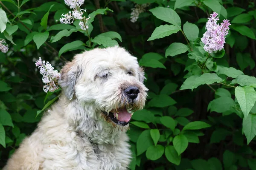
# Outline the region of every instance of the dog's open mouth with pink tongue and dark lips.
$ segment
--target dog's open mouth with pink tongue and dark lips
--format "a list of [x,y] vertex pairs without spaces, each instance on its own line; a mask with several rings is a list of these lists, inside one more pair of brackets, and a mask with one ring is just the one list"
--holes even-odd
[[131,120],[131,116],[133,115],[132,111],[130,111],[127,108],[112,110],[108,113],[103,111],[103,114],[107,122],[111,121],[116,125],[121,125],[121,126],[128,125]]

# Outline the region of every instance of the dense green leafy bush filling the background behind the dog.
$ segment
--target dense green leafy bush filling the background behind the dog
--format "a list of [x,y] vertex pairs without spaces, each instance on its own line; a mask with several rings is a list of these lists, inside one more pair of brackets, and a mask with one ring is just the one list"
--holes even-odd
[[[131,23],[131,8],[143,3],[150,4]],[[69,11],[64,0],[1,0],[0,40],[6,39],[9,52],[0,53],[0,168],[61,93],[42,91],[35,60],[42,57],[60,70],[82,51],[120,45],[145,68],[149,89],[145,108],[134,113],[128,130],[131,170],[254,170],[253,1],[107,0],[99,1],[99,9],[94,4],[86,0],[81,6],[90,17],[82,30],[78,20],[59,22]],[[213,11],[231,26],[224,49],[209,54],[201,37]]]

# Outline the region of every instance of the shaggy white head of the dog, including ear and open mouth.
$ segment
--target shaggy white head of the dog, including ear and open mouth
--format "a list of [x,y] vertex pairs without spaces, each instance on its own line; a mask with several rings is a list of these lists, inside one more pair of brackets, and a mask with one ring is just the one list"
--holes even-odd
[[77,99],[95,110],[90,116],[126,126],[133,112],[145,105],[148,89],[143,80],[137,58],[112,47],[78,54],[61,70],[59,84],[69,100]]

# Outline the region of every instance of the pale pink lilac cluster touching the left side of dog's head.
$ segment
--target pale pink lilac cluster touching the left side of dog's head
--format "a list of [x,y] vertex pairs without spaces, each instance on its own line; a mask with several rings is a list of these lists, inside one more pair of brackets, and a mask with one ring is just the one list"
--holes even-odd
[[44,84],[44,92],[47,93],[48,91],[53,92],[58,89],[58,79],[60,78],[61,74],[58,73],[57,70],[54,70],[52,65],[47,61],[42,61],[41,57],[39,60],[35,62],[35,66],[40,69],[40,74],[43,75],[43,82]]

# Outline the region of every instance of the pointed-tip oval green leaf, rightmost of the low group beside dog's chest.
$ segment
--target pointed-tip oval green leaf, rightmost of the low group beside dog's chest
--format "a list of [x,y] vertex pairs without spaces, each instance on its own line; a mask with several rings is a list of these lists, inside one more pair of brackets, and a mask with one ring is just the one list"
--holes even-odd
[[186,139],[186,136],[182,134],[175,136],[175,138],[173,139],[173,146],[177,151],[178,155],[183,153],[188,147],[188,145],[189,145],[188,139]]

